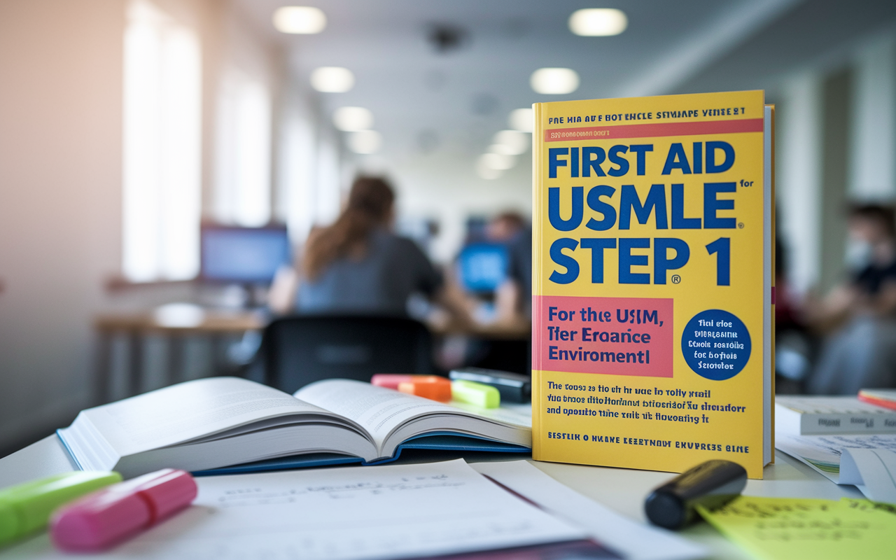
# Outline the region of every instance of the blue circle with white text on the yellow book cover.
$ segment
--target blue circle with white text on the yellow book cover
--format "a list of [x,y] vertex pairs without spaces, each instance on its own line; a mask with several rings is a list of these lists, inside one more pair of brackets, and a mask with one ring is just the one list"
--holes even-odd
[[685,362],[697,375],[724,381],[750,360],[750,332],[737,315],[708,309],[694,315],[681,335]]

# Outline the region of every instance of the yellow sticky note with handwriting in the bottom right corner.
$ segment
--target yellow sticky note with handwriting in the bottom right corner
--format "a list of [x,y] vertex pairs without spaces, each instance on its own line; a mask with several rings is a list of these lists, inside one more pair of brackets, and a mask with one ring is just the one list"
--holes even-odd
[[896,514],[867,500],[740,496],[703,519],[739,546],[768,560],[892,560]]

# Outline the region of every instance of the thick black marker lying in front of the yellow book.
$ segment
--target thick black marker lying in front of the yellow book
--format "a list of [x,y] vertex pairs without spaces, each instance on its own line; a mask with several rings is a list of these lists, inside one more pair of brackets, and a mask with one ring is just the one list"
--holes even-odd
[[679,530],[694,519],[694,506],[716,509],[744,487],[746,470],[736,462],[706,461],[653,490],[644,502],[644,513],[654,525]]

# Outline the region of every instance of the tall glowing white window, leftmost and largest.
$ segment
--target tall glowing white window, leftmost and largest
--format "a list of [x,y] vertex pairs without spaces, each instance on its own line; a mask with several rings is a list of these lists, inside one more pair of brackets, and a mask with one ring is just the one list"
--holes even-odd
[[202,62],[193,30],[135,0],[125,27],[123,271],[199,271]]

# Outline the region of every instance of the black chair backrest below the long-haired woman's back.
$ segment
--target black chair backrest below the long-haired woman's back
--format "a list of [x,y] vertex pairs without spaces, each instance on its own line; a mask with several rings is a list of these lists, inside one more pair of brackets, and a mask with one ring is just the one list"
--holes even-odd
[[432,372],[429,330],[402,317],[281,317],[265,329],[262,353],[265,383],[285,392],[332,377]]

